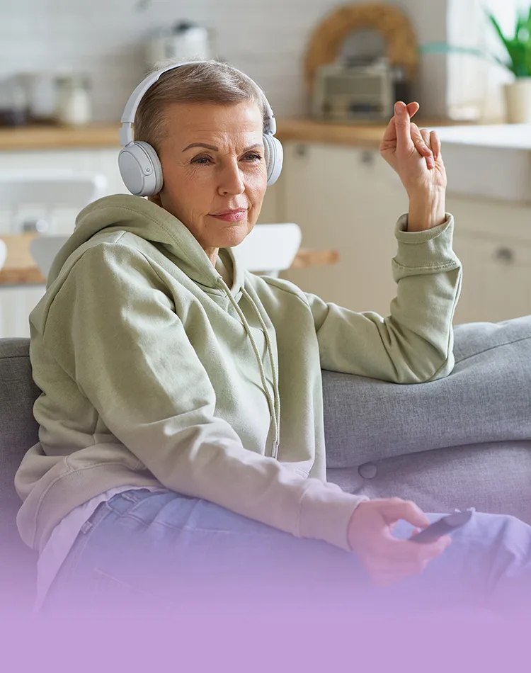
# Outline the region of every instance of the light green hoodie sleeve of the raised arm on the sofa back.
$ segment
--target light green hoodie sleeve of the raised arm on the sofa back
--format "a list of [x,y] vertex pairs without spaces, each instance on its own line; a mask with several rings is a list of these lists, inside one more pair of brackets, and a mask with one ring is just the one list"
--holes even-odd
[[461,288],[461,264],[452,250],[454,220],[395,235],[396,297],[390,315],[357,313],[307,295],[319,339],[321,367],[392,383],[423,383],[454,367],[452,319]]

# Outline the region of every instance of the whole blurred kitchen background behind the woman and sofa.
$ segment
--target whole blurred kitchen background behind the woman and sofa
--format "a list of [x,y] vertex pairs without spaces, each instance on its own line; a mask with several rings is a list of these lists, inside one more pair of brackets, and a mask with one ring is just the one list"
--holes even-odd
[[407,202],[378,147],[394,101],[415,99],[443,140],[456,322],[530,313],[530,17],[520,0],[0,0],[0,336],[28,333],[44,291],[33,240],[125,192],[120,115],[165,58],[227,61],[273,106],[285,166],[260,222],[295,222],[302,244],[268,269],[387,314]]

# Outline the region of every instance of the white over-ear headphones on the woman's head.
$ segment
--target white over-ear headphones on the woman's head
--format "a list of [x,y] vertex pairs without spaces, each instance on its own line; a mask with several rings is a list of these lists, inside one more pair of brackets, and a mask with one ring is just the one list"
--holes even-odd
[[[120,145],[122,145],[122,149],[120,150],[120,154],[118,154],[118,166],[120,167],[120,174],[125,186],[135,196],[153,196],[161,191],[164,183],[161,162],[154,147],[149,145],[148,142],[133,140],[132,124],[135,123],[135,114],[137,113],[140,101],[142,101],[142,96],[164,72],[195,63],[202,63],[202,61],[189,61],[179,63],[178,65],[170,65],[148,75],[148,77],[140,82],[127,101],[121,119]],[[241,71],[238,70],[237,72]],[[253,82],[246,74],[243,72],[241,74]],[[269,186],[275,183],[278,180],[278,176],[280,176],[283,152],[280,140],[275,138],[277,130],[275,115],[273,115],[273,110],[265,96],[264,102],[263,147]]]

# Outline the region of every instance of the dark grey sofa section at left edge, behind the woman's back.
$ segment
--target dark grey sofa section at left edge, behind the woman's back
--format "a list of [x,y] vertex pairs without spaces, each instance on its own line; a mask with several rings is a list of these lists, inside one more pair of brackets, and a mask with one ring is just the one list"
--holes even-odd
[[[33,552],[23,545],[16,528],[21,501],[13,479],[24,453],[38,441],[33,402],[40,391],[33,383],[29,339],[0,339],[0,587],[2,595],[13,589],[16,577],[33,592]],[[30,571],[30,568],[32,570]],[[30,575],[32,572],[32,575]]]

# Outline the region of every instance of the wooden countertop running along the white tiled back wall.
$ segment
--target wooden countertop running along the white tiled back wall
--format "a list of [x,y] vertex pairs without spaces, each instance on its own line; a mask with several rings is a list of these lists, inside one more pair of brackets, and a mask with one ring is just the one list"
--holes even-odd
[[[448,120],[419,119],[423,126],[456,125]],[[460,124],[462,125],[462,124]],[[0,152],[21,149],[77,149],[119,147],[119,123],[91,124],[86,127],[23,126],[0,128]],[[378,149],[385,125],[322,123],[309,118],[280,118],[277,137],[283,142],[323,142]]]

